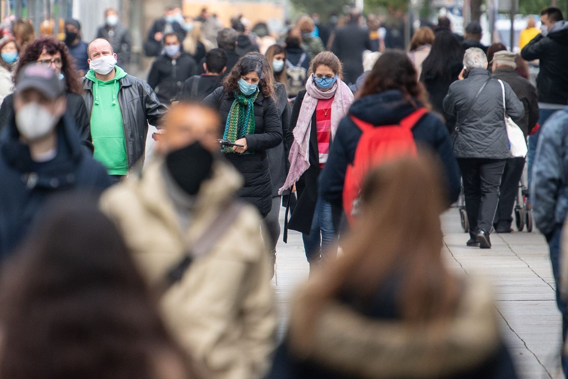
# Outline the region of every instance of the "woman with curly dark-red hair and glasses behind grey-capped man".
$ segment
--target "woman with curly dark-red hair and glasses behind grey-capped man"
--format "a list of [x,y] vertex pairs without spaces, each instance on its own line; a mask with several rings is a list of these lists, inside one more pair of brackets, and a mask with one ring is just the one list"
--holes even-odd
[[[93,150],[91,141],[91,127],[89,114],[85,107],[85,101],[81,96],[83,91],[81,81],[77,77],[77,69],[65,43],[53,36],[44,36],[28,43],[20,52],[18,65],[14,70],[14,82],[23,66],[39,62],[59,74],[61,80],[65,80],[67,94],[67,110],[65,114],[74,120],[80,138],[87,147]],[[7,95],[0,107],[0,128],[9,123],[14,117],[14,98]]]

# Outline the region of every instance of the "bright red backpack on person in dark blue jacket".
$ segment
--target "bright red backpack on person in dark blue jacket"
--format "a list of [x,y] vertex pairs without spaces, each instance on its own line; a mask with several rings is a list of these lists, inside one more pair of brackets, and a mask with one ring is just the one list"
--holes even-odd
[[353,163],[347,166],[343,187],[343,208],[349,224],[357,213],[357,202],[363,181],[371,169],[402,156],[416,156],[416,143],[412,127],[428,112],[419,108],[400,120],[399,125],[375,127],[373,124],[350,115],[351,120],[363,134],[357,144]]

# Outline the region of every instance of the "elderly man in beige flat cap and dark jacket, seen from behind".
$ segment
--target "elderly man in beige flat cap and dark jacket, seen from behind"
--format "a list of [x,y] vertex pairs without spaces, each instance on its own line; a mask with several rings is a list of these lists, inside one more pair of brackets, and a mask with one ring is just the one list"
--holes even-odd
[[[523,131],[526,139],[538,122],[538,97],[536,88],[532,83],[516,71],[516,56],[516,53],[507,50],[496,52],[492,61],[492,77],[507,82],[519,100],[523,102],[525,114],[517,122],[517,125]],[[499,205],[493,222],[495,231],[498,233],[510,233],[512,231],[513,206],[524,166],[524,157],[509,158],[505,165],[499,189]]]

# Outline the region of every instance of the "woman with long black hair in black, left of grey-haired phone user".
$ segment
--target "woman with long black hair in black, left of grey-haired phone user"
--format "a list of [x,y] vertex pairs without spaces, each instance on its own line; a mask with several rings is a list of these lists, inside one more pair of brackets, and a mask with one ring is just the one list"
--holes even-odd
[[430,53],[422,63],[420,74],[420,81],[426,86],[432,110],[444,116],[450,134],[456,128],[456,118],[445,113],[444,98],[448,94],[450,84],[460,76],[464,53],[461,43],[451,31],[438,31]]

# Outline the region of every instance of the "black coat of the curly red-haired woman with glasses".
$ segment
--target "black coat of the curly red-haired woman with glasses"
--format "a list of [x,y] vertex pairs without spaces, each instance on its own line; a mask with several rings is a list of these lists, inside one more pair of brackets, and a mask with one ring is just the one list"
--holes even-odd
[[[85,101],[74,92],[67,93],[67,109],[65,115],[73,120],[73,125],[77,128],[81,143],[93,152],[93,140],[91,139],[91,120],[87,113]],[[14,118],[14,94],[11,93],[4,98],[0,106],[0,131]]]

